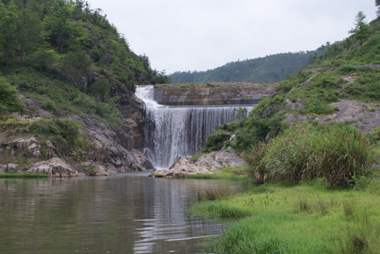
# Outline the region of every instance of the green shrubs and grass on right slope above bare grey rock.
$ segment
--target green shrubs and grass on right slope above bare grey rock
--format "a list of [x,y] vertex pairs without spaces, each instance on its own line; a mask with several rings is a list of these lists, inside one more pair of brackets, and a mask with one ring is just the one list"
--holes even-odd
[[[368,25],[369,33],[362,43],[356,33],[346,41],[327,47],[326,54],[295,76],[290,76],[276,88],[276,96],[262,100],[250,116],[239,123],[221,126],[220,132],[210,136],[204,151],[223,147],[223,133],[236,133],[236,142],[230,144],[239,152],[250,150],[260,142],[268,142],[288,128],[284,119],[288,114],[318,117],[338,109],[331,103],[356,100],[379,105],[380,70],[373,60],[380,55],[380,19]],[[347,46],[350,41],[350,46]],[[348,47],[348,48],[347,48]],[[333,48],[339,50],[332,53]],[[340,63],[337,59],[342,60]],[[323,66],[329,67],[323,67]],[[340,66],[339,66],[340,65]],[[373,109],[372,109],[373,111]]]

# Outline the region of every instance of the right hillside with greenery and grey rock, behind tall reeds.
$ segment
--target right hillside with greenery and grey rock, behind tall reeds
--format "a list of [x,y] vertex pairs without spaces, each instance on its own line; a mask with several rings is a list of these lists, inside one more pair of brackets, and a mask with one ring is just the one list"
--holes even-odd
[[[297,140],[306,138],[296,137],[296,133],[287,129],[309,123],[319,126],[315,127],[318,130],[305,130],[316,131],[318,134],[314,136],[339,132],[339,129],[345,132],[344,126],[353,126],[369,138],[368,142],[379,145],[380,66],[376,65],[380,56],[379,27],[378,18],[368,25],[365,23],[367,32],[364,37],[358,37],[359,31],[356,31],[346,40],[326,46],[326,54],[281,82],[276,95],[261,101],[247,119],[226,124],[215,135],[223,136],[226,132],[235,131],[236,141],[231,145],[240,152],[253,151],[255,154],[259,153],[255,147],[263,148],[259,144],[270,149],[272,139],[283,138],[281,142],[286,144],[292,140],[287,135],[294,135],[293,139]],[[217,147],[212,140],[223,142],[223,138],[211,137],[204,151]],[[378,153],[378,150],[373,152]],[[266,158],[259,154],[255,156],[258,156],[255,157],[258,161]],[[375,160],[377,163],[379,158]],[[256,166],[253,168],[258,170]],[[370,167],[369,164],[366,166]]]

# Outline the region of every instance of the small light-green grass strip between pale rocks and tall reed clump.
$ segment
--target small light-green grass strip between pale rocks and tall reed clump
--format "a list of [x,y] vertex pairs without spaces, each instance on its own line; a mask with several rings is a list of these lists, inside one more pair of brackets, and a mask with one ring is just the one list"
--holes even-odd
[[245,167],[223,168],[215,174],[196,174],[189,175],[186,178],[190,179],[226,179],[233,181],[248,181],[248,172]]

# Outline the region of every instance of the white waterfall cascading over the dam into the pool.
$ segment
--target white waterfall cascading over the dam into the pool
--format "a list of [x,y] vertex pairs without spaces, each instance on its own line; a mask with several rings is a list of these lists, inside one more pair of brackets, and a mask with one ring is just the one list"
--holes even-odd
[[144,153],[156,169],[165,169],[183,155],[200,151],[207,137],[223,123],[234,121],[246,106],[163,106],[154,101],[153,86],[137,86],[145,103]]

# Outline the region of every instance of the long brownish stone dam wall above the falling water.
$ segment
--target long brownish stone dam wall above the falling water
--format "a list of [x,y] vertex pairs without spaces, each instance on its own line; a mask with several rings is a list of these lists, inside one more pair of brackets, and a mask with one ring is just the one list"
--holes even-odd
[[154,88],[154,99],[163,105],[257,104],[275,93],[272,85],[251,83],[155,85]]

